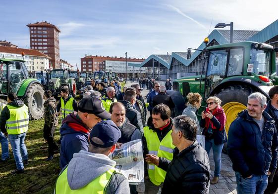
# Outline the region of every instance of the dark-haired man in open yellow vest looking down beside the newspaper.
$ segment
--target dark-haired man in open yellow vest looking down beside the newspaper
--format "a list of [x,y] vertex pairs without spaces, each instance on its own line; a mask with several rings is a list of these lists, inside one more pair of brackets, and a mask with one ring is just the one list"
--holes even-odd
[[[143,128],[142,142],[145,157],[147,154],[153,154],[172,160],[175,146],[171,138],[173,121],[170,114],[171,111],[165,104],[153,108],[152,123],[148,122],[148,126]],[[145,194],[157,194],[159,188],[163,187],[166,171],[154,164],[147,164],[147,170],[144,180]]]

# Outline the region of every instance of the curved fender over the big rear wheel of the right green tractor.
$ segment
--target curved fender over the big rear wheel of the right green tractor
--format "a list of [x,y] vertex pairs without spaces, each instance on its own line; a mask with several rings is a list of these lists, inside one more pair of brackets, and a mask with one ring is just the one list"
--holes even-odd
[[214,94],[219,93],[221,91],[221,89],[226,88],[227,86],[232,86],[232,85],[249,86],[249,87],[253,88],[253,91],[261,92],[268,99],[270,99],[269,90],[273,87],[273,86],[262,85],[258,81],[253,80],[251,78],[230,78],[227,81],[224,81],[221,84],[219,84],[216,88],[214,88],[211,91],[210,96],[213,96]]

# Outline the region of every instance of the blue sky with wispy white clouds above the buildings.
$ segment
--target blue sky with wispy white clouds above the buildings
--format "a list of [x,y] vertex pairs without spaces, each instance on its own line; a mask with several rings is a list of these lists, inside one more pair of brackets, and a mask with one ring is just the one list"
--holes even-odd
[[275,7],[277,0],[1,0],[0,39],[29,48],[26,25],[48,21],[61,30],[60,58],[73,65],[85,54],[147,58],[198,47],[220,22],[262,30],[278,19]]

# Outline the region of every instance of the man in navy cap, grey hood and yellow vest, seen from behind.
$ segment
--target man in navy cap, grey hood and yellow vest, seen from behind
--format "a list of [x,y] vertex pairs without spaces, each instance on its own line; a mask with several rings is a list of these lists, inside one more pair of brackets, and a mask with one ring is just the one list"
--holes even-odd
[[96,124],[90,133],[89,151],[73,155],[56,181],[55,194],[130,194],[128,181],[114,168],[116,162],[108,157],[120,137],[121,132],[113,121]]

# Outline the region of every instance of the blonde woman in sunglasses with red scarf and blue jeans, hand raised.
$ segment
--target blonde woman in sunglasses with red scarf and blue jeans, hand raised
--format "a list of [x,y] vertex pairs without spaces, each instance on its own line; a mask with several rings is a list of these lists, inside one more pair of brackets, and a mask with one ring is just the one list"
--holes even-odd
[[221,100],[218,97],[209,97],[207,105],[206,110],[202,112],[200,126],[204,127],[202,135],[205,135],[205,150],[208,155],[210,155],[210,150],[213,148],[215,170],[211,184],[216,184],[220,176],[223,145],[227,141],[225,132],[226,116],[220,106]]

